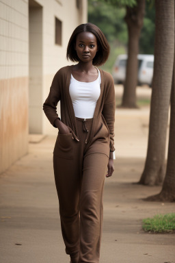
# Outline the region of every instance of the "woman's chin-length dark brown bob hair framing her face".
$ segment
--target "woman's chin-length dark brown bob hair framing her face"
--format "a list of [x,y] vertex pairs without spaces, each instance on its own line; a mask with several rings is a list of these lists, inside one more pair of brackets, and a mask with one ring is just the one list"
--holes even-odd
[[96,52],[95,58],[93,60],[93,65],[100,66],[104,64],[109,56],[110,47],[103,32],[92,23],[81,24],[75,28],[68,42],[66,53],[67,60],[71,60],[72,62],[79,62],[79,57],[77,55],[77,51],[75,50],[75,44],[77,35],[81,32],[91,32],[92,34],[94,34],[94,36],[96,36],[98,51]]

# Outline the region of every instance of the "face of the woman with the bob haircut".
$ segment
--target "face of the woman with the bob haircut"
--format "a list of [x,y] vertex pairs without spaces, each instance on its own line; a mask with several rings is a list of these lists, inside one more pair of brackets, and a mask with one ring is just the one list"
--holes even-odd
[[90,62],[94,59],[98,51],[96,36],[91,32],[81,32],[77,35],[75,50],[79,60]]

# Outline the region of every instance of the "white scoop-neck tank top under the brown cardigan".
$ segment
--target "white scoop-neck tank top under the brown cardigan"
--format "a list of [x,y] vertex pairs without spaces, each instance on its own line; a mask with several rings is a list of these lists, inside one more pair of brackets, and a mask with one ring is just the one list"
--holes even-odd
[[94,82],[79,82],[71,74],[69,93],[76,117],[93,118],[96,101],[100,97],[100,83],[99,70],[98,78]]

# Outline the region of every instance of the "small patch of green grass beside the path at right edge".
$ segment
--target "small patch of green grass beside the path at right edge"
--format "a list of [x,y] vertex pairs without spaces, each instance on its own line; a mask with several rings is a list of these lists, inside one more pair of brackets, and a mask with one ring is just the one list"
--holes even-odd
[[143,220],[144,231],[152,233],[170,233],[175,231],[175,213],[157,214]]

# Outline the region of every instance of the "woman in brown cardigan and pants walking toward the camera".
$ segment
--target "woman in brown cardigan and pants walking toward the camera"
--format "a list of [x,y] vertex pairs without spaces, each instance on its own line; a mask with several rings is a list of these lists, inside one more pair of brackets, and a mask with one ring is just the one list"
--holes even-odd
[[[78,62],[53,78],[44,112],[59,129],[53,151],[55,184],[66,253],[71,263],[98,263],[103,221],[103,184],[113,173],[113,79],[95,66],[109,55],[96,25],[79,25],[68,42],[67,58]],[[61,101],[61,120],[57,102]],[[108,171],[107,171],[108,167]],[[107,174],[106,174],[107,173]]]

